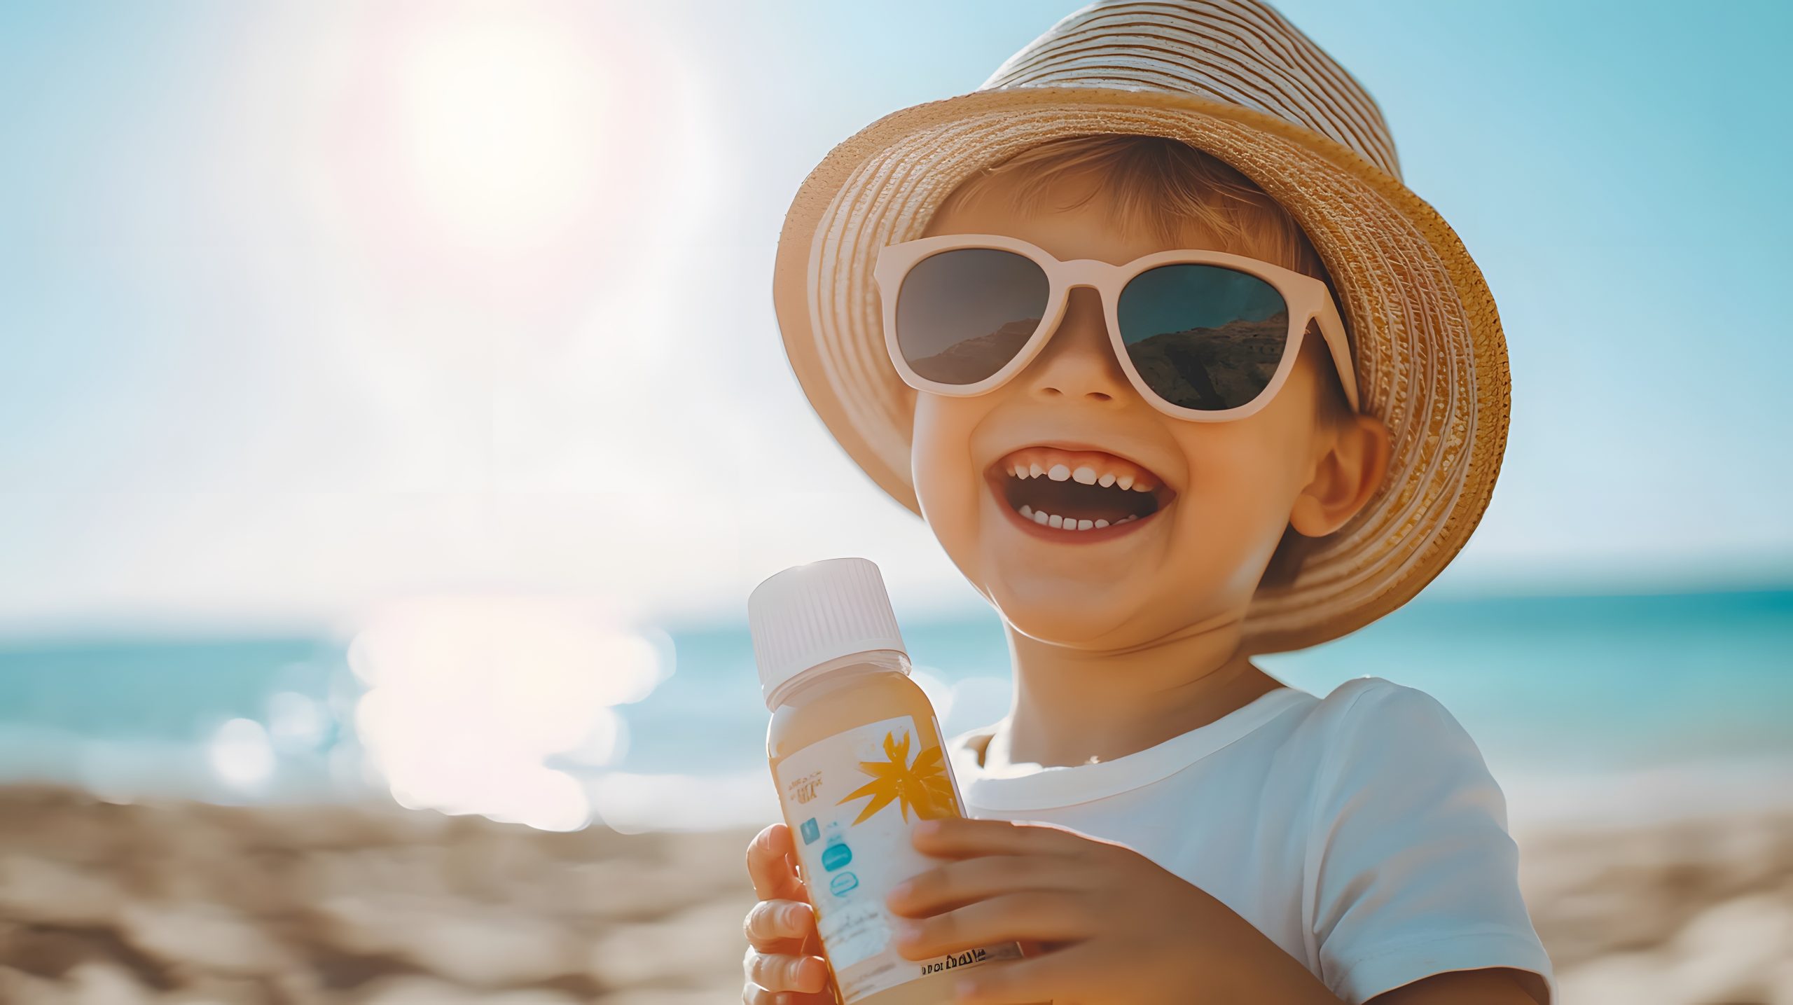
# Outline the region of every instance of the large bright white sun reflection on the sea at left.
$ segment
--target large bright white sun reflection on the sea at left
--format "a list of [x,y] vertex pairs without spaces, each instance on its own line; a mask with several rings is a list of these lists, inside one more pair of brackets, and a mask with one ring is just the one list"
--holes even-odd
[[377,613],[350,645],[368,686],[355,729],[409,808],[577,829],[579,779],[622,754],[615,704],[671,674],[608,604],[556,597],[418,597]]

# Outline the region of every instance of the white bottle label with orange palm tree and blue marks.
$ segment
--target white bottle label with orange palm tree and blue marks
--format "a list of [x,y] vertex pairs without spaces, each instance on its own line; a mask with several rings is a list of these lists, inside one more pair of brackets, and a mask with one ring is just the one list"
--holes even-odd
[[836,733],[794,751],[775,774],[816,930],[846,1005],[920,976],[1020,958],[1015,942],[925,960],[891,944],[895,915],[884,896],[941,863],[914,849],[909,826],[963,815],[945,751],[923,747],[913,717]]

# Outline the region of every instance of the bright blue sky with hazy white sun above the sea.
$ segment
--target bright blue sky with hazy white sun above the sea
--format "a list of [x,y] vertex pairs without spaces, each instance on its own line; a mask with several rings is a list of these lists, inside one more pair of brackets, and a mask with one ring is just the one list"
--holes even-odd
[[[455,589],[739,616],[857,554],[972,604],[778,346],[796,185],[1076,4],[0,5],[0,629]],[[1440,589],[1793,573],[1793,7],[1278,9],[1510,340]]]

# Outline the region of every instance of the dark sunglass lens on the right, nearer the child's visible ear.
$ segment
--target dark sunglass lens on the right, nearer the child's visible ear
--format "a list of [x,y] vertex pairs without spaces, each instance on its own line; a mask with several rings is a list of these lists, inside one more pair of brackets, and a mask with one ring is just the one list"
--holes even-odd
[[1277,287],[1223,265],[1148,269],[1121,290],[1115,314],[1146,383],[1203,412],[1262,394],[1289,340],[1289,305]]

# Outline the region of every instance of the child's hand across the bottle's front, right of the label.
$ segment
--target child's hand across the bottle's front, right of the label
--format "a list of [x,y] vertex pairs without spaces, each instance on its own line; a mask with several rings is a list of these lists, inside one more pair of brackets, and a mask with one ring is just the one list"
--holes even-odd
[[[925,824],[938,828],[929,833]],[[920,824],[913,840],[916,849],[954,862],[914,876],[886,899],[895,914],[918,919],[913,935],[898,933],[900,955],[920,960],[993,942],[1036,942],[1029,958],[968,971],[974,991],[956,1001],[1232,1000],[1230,976],[1241,966],[1234,957],[1255,955],[1264,942],[1226,905],[1144,855],[1069,828],[954,817]]]

